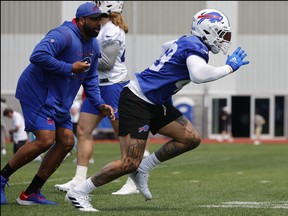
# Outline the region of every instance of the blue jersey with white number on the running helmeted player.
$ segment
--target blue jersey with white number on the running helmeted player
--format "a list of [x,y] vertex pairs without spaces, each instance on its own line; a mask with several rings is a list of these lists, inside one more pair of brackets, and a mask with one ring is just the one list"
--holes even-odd
[[136,73],[144,95],[155,104],[164,104],[191,82],[186,59],[198,55],[208,63],[208,49],[196,36],[182,36],[141,73]]

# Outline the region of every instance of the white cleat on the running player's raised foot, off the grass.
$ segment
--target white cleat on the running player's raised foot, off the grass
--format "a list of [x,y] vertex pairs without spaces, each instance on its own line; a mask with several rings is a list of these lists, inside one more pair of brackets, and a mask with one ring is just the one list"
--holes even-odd
[[129,174],[130,178],[135,183],[136,187],[140,193],[145,197],[146,200],[152,200],[152,194],[148,188],[148,173],[142,173],[136,170],[133,173]]

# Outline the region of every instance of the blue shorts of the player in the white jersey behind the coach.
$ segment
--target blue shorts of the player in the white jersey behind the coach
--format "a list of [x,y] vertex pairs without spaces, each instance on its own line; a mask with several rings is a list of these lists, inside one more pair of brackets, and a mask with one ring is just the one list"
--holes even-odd
[[[119,118],[118,102],[120,93],[123,90],[124,86],[127,85],[127,83],[128,82],[116,83],[108,86],[99,86],[102,99],[105,101],[106,104],[110,105],[113,108],[116,119]],[[100,110],[96,109],[87,98],[84,99],[80,112],[86,112],[98,116],[100,116],[101,114]]]

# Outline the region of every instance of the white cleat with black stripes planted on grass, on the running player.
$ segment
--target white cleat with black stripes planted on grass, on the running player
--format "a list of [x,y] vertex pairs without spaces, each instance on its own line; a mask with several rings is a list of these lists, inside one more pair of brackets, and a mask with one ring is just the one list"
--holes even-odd
[[76,193],[73,189],[70,189],[66,196],[65,201],[70,202],[75,208],[77,208],[79,211],[83,212],[97,212],[99,210],[93,208],[91,205],[90,197],[88,195],[81,195],[79,193]]

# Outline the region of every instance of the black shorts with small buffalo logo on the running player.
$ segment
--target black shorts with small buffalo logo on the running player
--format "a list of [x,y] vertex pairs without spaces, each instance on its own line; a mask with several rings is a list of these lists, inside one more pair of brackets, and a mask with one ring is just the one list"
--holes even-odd
[[183,114],[170,102],[164,105],[150,104],[137,97],[128,87],[119,99],[119,136],[130,134],[134,139],[148,139],[149,131],[154,135],[162,127]]

